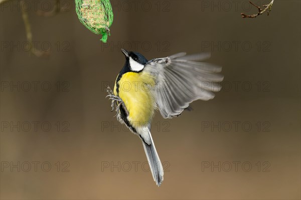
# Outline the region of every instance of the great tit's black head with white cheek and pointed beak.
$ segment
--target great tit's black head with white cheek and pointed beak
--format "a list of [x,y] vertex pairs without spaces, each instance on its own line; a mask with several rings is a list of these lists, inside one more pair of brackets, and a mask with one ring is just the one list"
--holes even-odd
[[144,56],[138,52],[128,52],[124,49],[121,49],[121,51],[125,56],[125,64],[128,65],[131,71],[140,72],[143,70],[144,65],[147,63]]

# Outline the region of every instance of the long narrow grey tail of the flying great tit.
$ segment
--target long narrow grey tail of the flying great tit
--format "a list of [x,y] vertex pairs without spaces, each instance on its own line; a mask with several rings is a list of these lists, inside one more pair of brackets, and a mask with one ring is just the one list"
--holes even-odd
[[143,141],[142,141],[142,144],[144,147],[144,151],[145,151],[145,154],[147,157],[147,161],[148,161],[150,170],[152,171],[154,181],[156,181],[156,184],[158,186],[160,186],[163,181],[163,175],[164,175],[163,166],[160,161],[159,155],[157,153],[152,135],[150,135],[150,133],[149,133],[149,136],[151,139],[150,145],[146,144]]

